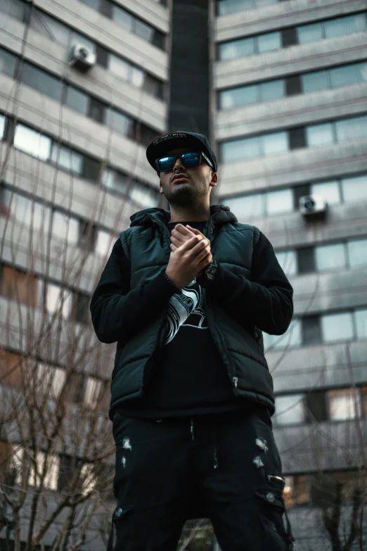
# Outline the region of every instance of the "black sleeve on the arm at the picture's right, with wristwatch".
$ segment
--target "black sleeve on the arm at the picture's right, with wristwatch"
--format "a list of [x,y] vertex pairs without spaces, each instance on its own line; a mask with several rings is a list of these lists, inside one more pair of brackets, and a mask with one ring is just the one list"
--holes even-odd
[[251,273],[249,281],[219,265],[214,281],[203,282],[203,286],[238,322],[272,335],[285,333],[293,315],[293,289],[262,232],[253,252]]

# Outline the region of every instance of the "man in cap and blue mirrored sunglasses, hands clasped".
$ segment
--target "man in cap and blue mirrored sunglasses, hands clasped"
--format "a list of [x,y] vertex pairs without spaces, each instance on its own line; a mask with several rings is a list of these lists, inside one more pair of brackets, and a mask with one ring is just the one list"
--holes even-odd
[[259,229],[210,207],[205,136],[159,137],[147,158],[170,212],[131,217],[91,300],[98,338],[117,341],[115,550],[174,551],[200,517],[222,551],[292,550],[262,342],[288,328],[292,287]]

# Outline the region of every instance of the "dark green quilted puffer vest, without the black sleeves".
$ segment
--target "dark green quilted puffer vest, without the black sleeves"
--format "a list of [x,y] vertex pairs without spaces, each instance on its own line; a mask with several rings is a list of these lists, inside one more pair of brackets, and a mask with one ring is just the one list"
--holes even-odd
[[[124,253],[131,263],[130,288],[157,276],[168,264],[169,211],[150,208],[131,217],[131,227],[120,234]],[[251,280],[252,251],[259,229],[239,224],[224,205],[214,205],[205,236],[211,241],[213,258]],[[202,289],[207,322],[215,346],[226,367],[233,394],[269,407],[274,412],[273,380],[264,357],[262,332],[251,320],[240,324],[210,300]],[[110,414],[126,400],[139,398],[154,376],[154,360],[165,337],[166,310],[129,341],[118,341],[112,373]]]

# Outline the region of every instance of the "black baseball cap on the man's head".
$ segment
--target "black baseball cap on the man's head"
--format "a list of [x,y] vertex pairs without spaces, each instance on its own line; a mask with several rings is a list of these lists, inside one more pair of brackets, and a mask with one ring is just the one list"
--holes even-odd
[[[146,158],[148,159],[150,166],[153,167],[154,170],[157,170],[157,167],[155,166],[156,159],[165,156],[165,154],[168,151],[171,151],[171,149],[186,146],[189,148],[195,148],[196,150],[205,153],[213,165],[214,172],[217,172],[217,157],[215,156],[207,137],[205,137],[204,134],[197,134],[196,132],[177,130],[171,134],[164,134],[163,136],[155,138],[146,148]],[[158,175],[159,174],[160,173],[158,172]]]

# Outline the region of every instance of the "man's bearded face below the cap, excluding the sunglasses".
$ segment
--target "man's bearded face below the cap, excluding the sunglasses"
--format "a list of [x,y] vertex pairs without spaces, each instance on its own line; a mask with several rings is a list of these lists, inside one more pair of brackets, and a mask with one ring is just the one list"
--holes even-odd
[[[187,147],[176,148],[169,151],[167,156],[191,151],[196,150]],[[170,205],[197,206],[198,202],[205,203],[217,182],[217,172],[213,172],[204,159],[197,167],[184,167],[181,158],[178,157],[172,170],[160,172],[160,193],[165,195]]]

